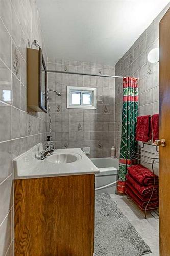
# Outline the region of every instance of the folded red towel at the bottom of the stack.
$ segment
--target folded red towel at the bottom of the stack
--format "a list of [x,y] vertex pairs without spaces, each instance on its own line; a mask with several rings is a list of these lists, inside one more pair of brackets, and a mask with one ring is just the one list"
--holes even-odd
[[[148,201],[145,201],[145,202],[141,201],[141,200],[133,193],[133,191],[132,191],[128,186],[126,186],[126,194],[127,194],[128,196],[130,196],[130,197],[133,199],[133,201],[134,201],[142,210],[145,209],[145,206],[147,205]],[[159,207],[159,201],[158,201],[158,200],[156,200],[156,201],[150,201],[149,204],[148,204],[147,209],[152,209],[152,208],[156,209],[156,208],[158,208],[158,207]]]

